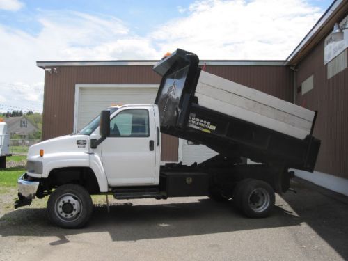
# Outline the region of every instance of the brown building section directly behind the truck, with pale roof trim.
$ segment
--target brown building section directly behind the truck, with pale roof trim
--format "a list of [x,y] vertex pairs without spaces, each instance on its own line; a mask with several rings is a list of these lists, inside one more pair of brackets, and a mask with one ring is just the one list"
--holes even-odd
[[[76,123],[77,120],[74,117],[74,111],[77,103],[77,97],[75,97],[77,86],[95,85],[99,90],[108,84],[125,85],[129,88],[139,84],[159,86],[161,78],[152,70],[152,66],[156,62],[38,62],[38,65],[46,70],[42,139],[70,134],[76,130],[74,122]],[[293,97],[292,72],[290,68],[284,66],[284,63],[285,61],[202,61],[207,72],[291,102]],[[128,99],[130,98],[128,97]],[[113,100],[112,103],[119,102],[132,103],[127,99]],[[150,102],[153,103],[154,99]],[[105,106],[111,106],[112,103]],[[96,109],[95,113],[99,113],[99,111]],[[162,141],[161,160],[178,161],[178,139],[165,135]]]

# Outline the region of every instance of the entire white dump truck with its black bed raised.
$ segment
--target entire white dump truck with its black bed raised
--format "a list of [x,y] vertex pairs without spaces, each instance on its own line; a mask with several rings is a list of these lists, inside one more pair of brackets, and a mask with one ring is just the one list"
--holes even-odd
[[[290,189],[289,168],[314,169],[316,113],[203,72],[198,62],[177,49],[154,67],[162,77],[155,104],[113,106],[78,133],[32,145],[15,207],[49,196],[49,219],[62,228],[86,224],[93,194],[209,196],[232,199],[246,216],[268,216],[274,193]],[[219,154],[162,165],[161,132]]]

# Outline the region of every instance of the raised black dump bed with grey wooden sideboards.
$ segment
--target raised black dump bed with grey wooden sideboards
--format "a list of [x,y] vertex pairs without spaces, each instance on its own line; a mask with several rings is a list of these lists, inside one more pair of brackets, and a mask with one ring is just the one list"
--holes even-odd
[[161,132],[221,155],[313,171],[320,145],[314,111],[204,72],[198,62],[177,49],[155,65]]

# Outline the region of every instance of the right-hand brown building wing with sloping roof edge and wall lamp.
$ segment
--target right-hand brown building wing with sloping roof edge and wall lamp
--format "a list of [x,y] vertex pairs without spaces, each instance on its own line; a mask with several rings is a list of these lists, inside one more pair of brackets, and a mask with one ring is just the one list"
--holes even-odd
[[[319,111],[314,135],[322,140],[316,175],[298,174],[318,184],[326,180],[322,186],[348,194],[348,30],[338,42],[345,45],[330,47],[335,23],[348,27],[348,1],[333,2],[287,58],[287,66],[294,70],[294,102]],[[332,182],[325,173],[344,179]]]

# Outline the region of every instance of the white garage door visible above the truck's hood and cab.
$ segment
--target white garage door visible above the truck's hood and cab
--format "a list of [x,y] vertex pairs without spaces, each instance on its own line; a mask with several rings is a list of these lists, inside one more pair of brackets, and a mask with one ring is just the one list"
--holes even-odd
[[74,131],[82,129],[100,111],[115,104],[153,104],[156,85],[76,86]]

